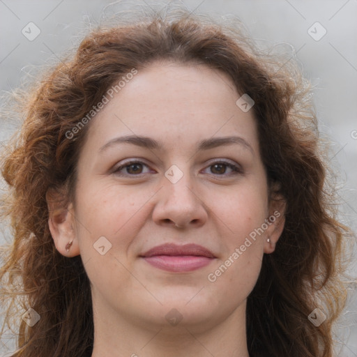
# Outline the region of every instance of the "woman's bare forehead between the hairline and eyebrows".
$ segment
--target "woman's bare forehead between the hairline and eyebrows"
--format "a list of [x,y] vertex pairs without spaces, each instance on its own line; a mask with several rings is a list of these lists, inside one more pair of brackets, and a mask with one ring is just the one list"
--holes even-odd
[[89,140],[95,137],[98,149],[118,135],[142,135],[183,149],[208,137],[236,134],[257,146],[253,112],[236,105],[240,97],[219,70],[152,63],[109,98],[91,123]]

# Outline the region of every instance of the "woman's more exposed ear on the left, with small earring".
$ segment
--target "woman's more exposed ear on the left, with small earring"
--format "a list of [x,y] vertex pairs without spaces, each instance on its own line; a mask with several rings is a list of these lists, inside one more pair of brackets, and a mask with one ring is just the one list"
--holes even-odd
[[53,188],[47,190],[46,201],[49,213],[48,226],[56,250],[65,257],[79,255],[73,204],[67,201],[63,191]]

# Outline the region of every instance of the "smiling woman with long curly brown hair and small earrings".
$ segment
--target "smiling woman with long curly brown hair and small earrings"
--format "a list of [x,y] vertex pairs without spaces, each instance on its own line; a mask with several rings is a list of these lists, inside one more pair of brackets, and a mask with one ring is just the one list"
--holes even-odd
[[333,356],[345,228],[309,93],[185,10],[89,34],[3,159],[13,357]]

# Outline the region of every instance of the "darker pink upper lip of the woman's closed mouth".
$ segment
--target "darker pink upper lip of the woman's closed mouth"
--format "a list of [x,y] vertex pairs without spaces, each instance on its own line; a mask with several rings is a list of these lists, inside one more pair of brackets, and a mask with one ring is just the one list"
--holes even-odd
[[166,243],[162,245],[157,245],[154,248],[149,249],[145,252],[141,257],[153,257],[155,255],[195,255],[197,257],[208,257],[215,258],[213,253],[202,247],[201,245],[197,245],[194,243],[185,244],[185,245],[176,245],[174,243]]

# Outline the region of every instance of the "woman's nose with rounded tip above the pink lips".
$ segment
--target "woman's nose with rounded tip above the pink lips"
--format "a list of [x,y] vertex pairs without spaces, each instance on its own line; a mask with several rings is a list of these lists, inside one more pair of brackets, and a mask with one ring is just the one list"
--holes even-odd
[[158,225],[177,228],[202,227],[208,219],[202,192],[195,190],[189,174],[176,183],[163,177],[153,208],[153,221]]

